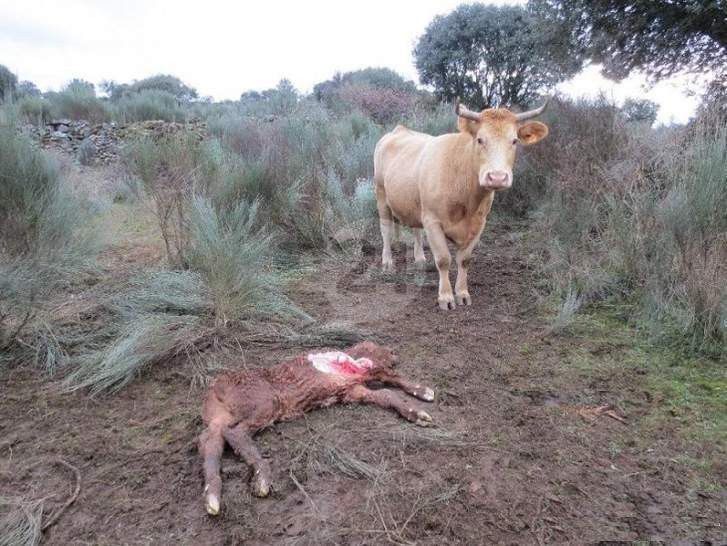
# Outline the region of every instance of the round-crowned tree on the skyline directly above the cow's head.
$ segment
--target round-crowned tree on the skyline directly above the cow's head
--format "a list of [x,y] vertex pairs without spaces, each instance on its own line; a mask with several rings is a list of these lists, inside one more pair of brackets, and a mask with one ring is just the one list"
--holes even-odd
[[524,106],[580,70],[569,40],[522,7],[461,5],[429,24],[414,58],[421,82],[442,99]]

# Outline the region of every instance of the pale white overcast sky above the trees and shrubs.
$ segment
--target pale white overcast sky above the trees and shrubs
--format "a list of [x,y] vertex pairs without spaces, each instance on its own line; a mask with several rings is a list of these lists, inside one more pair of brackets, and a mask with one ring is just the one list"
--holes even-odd
[[[418,81],[411,53],[417,38],[435,15],[461,3],[0,0],[0,64],[43,90],[73,77],[130,82],[169,73],[218,100],[284,77],[308,92],[336,71],[367,66]],[[649,89],[632,77],[616,85],[591,67],[559,89],[574,96],[604,91],[617,101],[647,97],[661,106],[659,121],[683,122],[698,104],[686,82]]]

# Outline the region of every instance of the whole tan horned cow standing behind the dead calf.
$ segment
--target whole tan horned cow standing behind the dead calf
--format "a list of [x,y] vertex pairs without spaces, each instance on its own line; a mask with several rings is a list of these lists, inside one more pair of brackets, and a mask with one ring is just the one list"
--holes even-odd
[[[545,138],[548,127],[526,120],[543,113],[515,114],[504,108],[471,112],[457,102],[459,133],[434,137],[398,125],[376,144],[374,182],[384,249],[384,271],[393,267],[394,221],[413,228],[414,261],[425,261],[422,230],[439,270],[441,309],[470,305],[467,269],[497,190],[512,185],[516,145]],[[449,281],[447,240],[456,248],[455,293]]]

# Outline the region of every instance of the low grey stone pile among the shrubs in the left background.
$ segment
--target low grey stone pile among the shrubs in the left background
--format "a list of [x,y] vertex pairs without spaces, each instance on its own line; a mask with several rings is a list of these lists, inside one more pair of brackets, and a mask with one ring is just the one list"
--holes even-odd
[[107,165],[116,161],[124,144],[137,138],[156,139],[183,130],[191,132],[200,140],[207,138],[207,124],[200,120],[91,124],[82,120],[57,119],[41,126],[27,125],[24,130],[41,147],[71,154],[85,165]]

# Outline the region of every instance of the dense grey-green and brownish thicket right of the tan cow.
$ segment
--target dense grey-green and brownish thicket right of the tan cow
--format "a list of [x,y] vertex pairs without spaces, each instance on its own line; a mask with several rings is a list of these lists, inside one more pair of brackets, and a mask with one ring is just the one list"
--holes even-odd
[[576,296],[631,301],[653,333],[723,355],[724,124],[627,128],[604,101],[560,103],[552,115],[551,136],[529,159],[543,188],[534,232],[564,309]]

